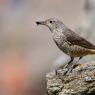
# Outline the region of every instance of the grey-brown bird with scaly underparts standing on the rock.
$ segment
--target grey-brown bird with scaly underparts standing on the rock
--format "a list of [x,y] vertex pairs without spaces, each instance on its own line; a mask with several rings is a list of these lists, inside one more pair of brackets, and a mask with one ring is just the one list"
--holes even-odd
[[36,21],[36,24],[48,27],[58,48],[70,56],[67,66],[70,66],[76,57],[80,60],[86,55],[95,54],[95,45],[72,31],[59,19],[50,18],[44,21]]

